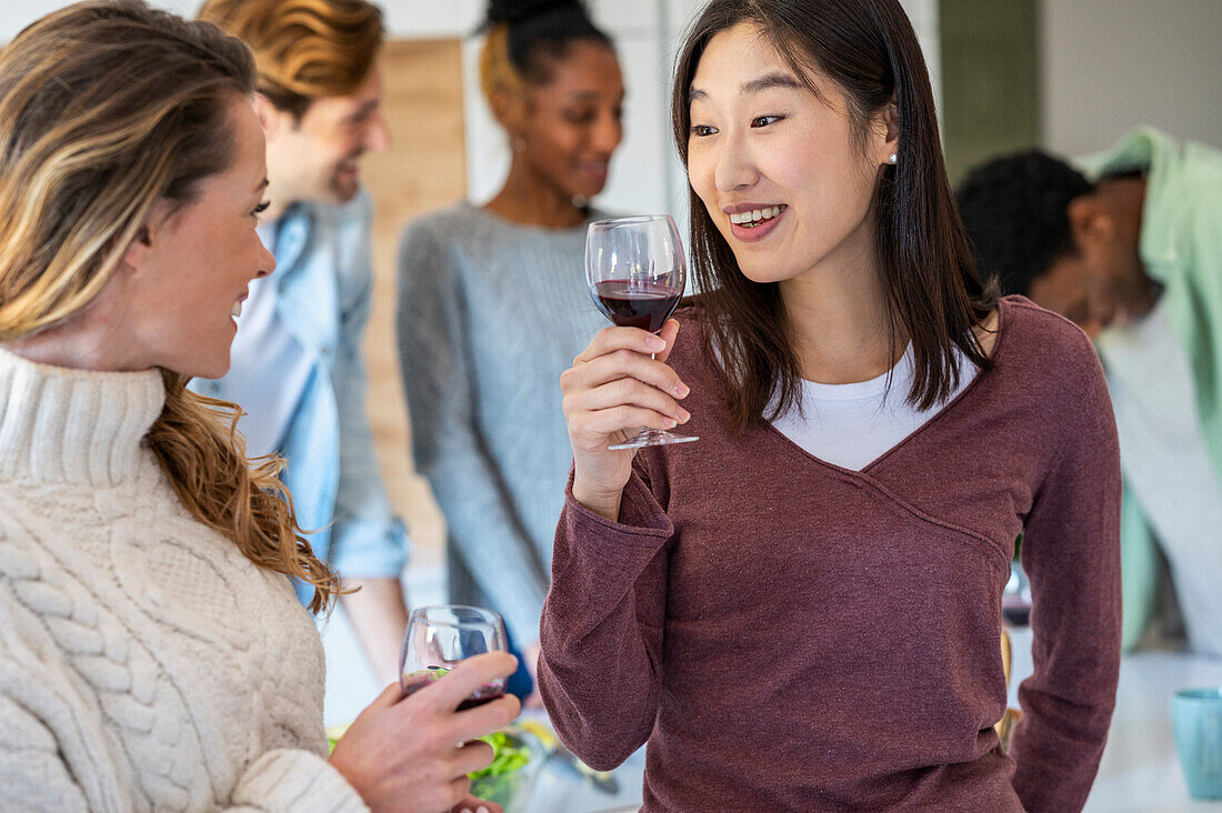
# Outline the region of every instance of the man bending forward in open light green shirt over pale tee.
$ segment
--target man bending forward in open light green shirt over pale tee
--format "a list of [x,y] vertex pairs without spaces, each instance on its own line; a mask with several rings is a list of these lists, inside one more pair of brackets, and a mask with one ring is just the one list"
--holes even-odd
[[956,194],[981,270],[1078,323],[1102,358],[1125,646],[1155,616],[1165,559],[1189,647],[1222,655],[1222,153],[1138,127],[1074,165],[992,159]]

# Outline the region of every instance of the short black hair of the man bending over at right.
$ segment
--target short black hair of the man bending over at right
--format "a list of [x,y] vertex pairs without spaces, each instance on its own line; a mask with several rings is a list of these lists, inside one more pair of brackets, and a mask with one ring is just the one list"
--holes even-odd
[[1004,293],[1025,296],[1053,262],[1077,253],[1069,202],[1094,188],[1037,149],[975,166],[954,194],[980,274],[996,278]]

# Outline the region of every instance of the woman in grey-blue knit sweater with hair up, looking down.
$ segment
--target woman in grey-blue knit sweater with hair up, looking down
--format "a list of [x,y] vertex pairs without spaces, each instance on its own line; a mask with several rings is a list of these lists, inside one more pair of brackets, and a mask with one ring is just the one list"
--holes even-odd
[[513,159],[483,208],[411,224],[398,342],[415,466],[448,526],[451,599],[495,606],[533,669],[572,454],[560,374],[602,326],[585,200],[620,144],[611,40],[573,0],[492,2],[484,94]]

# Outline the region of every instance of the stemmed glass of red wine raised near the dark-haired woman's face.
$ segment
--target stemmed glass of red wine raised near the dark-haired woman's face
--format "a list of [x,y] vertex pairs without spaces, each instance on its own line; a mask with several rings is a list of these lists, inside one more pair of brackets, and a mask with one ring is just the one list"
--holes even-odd
[[[656,334],[675,312],[687,284],[687,258],[670,215],[616,218],[590,224],[585,235],[585,284],[594,304],[621,328]],[[607,449],[639,449],[698,440],[643,428]]]

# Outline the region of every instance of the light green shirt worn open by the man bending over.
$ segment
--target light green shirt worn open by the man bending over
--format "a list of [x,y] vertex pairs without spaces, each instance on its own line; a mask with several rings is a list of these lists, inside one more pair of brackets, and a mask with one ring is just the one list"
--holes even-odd
[[[1146,172],[1139,252],[1146,273],[1163,286],[1171,328],[1188,357],[1201,434],[1222,477],[1222,153],[1136,127],[1079,165],[1092,178]],[[1154,611],[1158,557],[1128,490],[1124,502],[1124,644],[1132,647]]]

